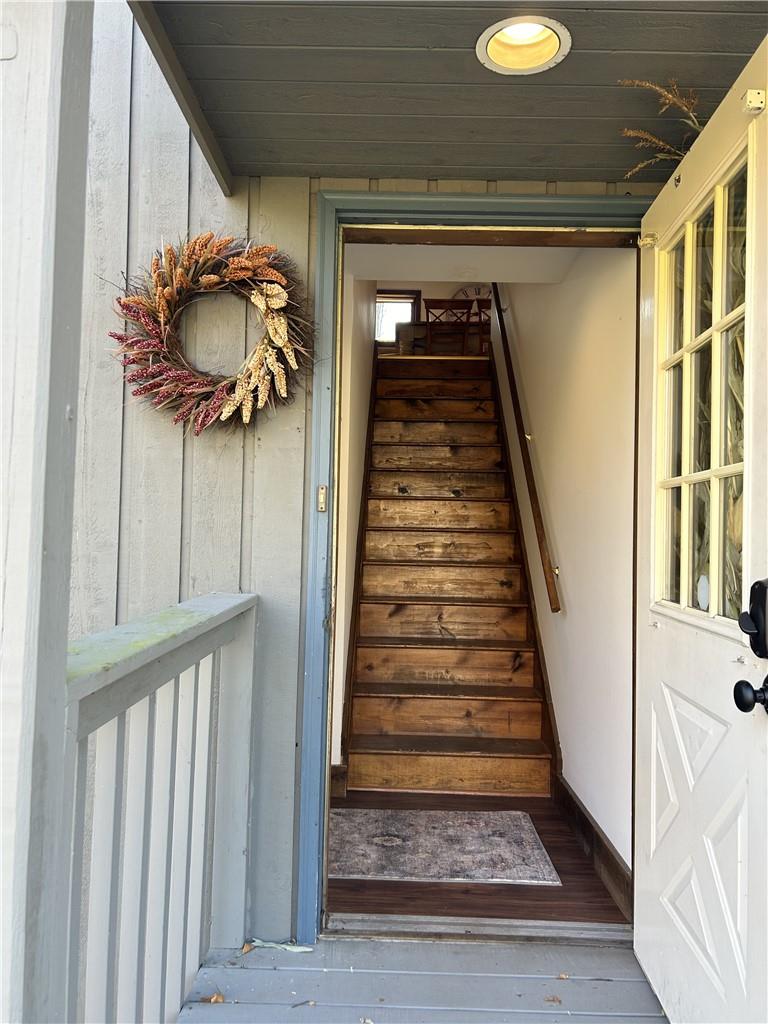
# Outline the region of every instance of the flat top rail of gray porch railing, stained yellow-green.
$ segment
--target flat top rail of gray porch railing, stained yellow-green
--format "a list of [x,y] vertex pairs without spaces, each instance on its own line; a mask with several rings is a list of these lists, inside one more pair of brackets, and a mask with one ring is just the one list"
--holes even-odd
[[258,603],[256,594],[207,594],[70,645],[68,699],[82,700],[216,630]]

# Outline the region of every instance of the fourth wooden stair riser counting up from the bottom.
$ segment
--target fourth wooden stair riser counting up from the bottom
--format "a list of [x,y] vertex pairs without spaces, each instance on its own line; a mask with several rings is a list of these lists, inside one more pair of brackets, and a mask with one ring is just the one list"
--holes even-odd
[[452,604],[360,603],[361,637],[527,640],[527,609]]

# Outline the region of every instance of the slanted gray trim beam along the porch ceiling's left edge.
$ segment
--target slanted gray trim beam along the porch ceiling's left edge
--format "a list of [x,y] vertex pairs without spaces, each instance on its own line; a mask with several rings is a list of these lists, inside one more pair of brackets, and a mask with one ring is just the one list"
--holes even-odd
[[225,196],[231,196],[232,173],[229,170],[229,165],[211,131],[211,126],[206,120],[198,97],[189,85],[186,73],[176,56],[173,43],[163,28],[155,4],[148,0],[128,0],[128,6],[158,61],[208,166],[211,168],[213,176],[218,181],[222,193]]

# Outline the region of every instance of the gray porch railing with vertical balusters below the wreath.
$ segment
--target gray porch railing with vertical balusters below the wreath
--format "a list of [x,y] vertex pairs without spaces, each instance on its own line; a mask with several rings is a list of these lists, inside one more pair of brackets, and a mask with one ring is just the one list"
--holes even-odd
[[211,594],[70,649],[70,1021],[173,1021],[243,941],[256,609]]

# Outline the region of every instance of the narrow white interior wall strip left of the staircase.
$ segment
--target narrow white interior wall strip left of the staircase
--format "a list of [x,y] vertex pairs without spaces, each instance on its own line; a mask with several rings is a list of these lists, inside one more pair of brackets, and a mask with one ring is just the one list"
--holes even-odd
[[376,282],[344,275],[339,432],[338,555],[334,600],[332,764],[341,762],[344,682],[357,568],[362,472],[366,464],[368,410],[374,358]]

